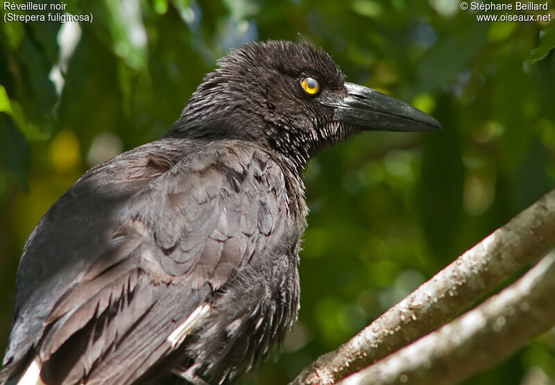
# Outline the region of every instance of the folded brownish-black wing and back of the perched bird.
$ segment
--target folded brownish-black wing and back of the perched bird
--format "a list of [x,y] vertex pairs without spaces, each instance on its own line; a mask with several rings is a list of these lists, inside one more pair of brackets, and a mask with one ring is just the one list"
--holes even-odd
[[38,347],[53,382],[137,379],[172,332],[271,250],[289,209],[278,165],[239,142],[182,148],[162,139],[122,154],[44,216],[19,266],[5,364],[21,369]]

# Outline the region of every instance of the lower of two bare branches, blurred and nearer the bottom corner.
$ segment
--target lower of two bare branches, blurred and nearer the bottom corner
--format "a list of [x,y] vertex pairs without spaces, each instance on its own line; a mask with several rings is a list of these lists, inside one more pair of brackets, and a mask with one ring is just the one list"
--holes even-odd
[[340,384],[456,384],[555,325],[555,253],[476,309]]

